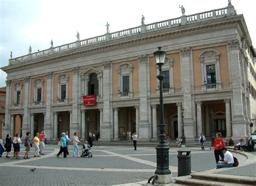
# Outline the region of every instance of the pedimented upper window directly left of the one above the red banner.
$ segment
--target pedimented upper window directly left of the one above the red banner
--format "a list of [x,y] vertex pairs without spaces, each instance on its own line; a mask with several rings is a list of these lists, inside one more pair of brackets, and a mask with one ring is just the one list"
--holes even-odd
[[62,73],[58,76],[57,103],[68,104],[69,101],[69,75]]

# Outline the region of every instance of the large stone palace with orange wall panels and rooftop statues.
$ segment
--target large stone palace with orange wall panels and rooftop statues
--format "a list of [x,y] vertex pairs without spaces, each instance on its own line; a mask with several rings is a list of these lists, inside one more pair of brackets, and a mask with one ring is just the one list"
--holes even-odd
[[[250,135],[255,118],[255,49],[245,19],[232,4],[152,24],[107,32],[10,59],[4,134],[45,129],[48,140],[65,130],[83,139],[119,140],[127,130],[156,140],[158,67],[153,52],[167,52],[163,66],[166,133],[188,140],[215,132]],[[83,95],[96,105],[84,106]],[[255,129],[255,121],[254,121]]]

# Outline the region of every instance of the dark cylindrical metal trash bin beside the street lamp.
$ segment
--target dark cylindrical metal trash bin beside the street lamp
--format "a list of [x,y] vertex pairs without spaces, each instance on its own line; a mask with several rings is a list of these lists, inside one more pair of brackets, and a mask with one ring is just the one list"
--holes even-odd
[[[178,176],[187,176],[191,174],[191,150],[181,149],[178,151]],[[183,155],[186,153],[186,155]]]

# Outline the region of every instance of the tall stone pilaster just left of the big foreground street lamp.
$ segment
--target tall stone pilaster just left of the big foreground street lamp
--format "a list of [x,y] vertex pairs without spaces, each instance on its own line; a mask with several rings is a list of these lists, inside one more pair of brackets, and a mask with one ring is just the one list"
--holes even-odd
[[139,97],[140,97],[140,109],[139,109],[139,137],[140,140],[149,140],[150,132],[150,122],[149,115],[147,114],[147,55],[138,56],[139,60]]

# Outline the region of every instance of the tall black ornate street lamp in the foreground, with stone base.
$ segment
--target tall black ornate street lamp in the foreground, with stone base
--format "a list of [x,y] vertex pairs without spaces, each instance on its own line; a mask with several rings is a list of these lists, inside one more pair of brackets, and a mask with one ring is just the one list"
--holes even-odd
[[148,183],[152,180],[154,182],[166,184],[172,182],[172,174],[169,169],[169,147],[166,145],[165,136],[165,122],[164,122],[164,103],[163,103],[163,79],[165,78],[162,74],[162,66],[164,65],[166,52],[158,47],[158,51],[154,52],[156,58],[156,64],[159,67],[159,74],[157,79],[159,80],[159,101],[160,101],[160,125],[159,125],[159,144],[156,147],[157,150],[157,170],[154,172],[156,175],[149,178]]

